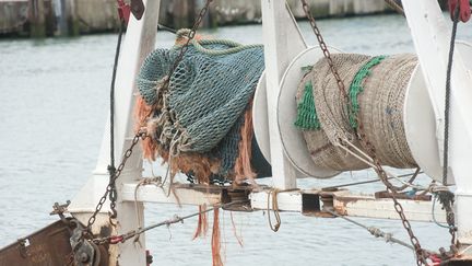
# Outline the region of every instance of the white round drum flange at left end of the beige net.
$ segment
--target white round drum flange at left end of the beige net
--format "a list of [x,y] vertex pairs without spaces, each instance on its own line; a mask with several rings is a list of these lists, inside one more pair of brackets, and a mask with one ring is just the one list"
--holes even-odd
[[[331,53],[340,53],[330,48]],[[281,81],[281,89],[278,97],[278,126],[282,147],[286,158],[296,170],[307,176],[328,178],[340,173],[330,169],[323,169],[315,164],[308,151],[305,138],[299,129],[294,126],[297,115],[295,95],[298,84],[304,77],[303,67],[312,66],[323,58],[321,49],[310,47],[298,54],[286,68]]]

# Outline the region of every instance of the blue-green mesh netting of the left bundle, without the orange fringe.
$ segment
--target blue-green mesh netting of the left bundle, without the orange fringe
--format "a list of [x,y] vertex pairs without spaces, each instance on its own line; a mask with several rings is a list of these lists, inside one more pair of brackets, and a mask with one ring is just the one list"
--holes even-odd
[[209,39],[192,42],[162,88],[180,46],[156,49],[144,60],[137,79],[148,105],[164,103],[157,112],[154,136],[176,153],[198,152],[222,160],[222,173],[233,169],[243,115],[264,69],[260,45]]

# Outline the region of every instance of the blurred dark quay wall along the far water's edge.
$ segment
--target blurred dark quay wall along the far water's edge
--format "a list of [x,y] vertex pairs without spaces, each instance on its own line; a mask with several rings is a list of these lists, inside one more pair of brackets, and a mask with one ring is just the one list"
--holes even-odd
[[[381,0],[316,0],[310,9],[317,19],[392,13]],[[398,1],[400,2],[400,1]],[[445,1],[440,1],[445,2]],[[163,0],[160,24],[191,27],[205,0]],[[298,0],[287,0],[297,20],[305,13]],[[261,2],[214,0],[202,27],[261,23]],[[0,0],[0,38],[78,36],[117,32],[116,0]]]

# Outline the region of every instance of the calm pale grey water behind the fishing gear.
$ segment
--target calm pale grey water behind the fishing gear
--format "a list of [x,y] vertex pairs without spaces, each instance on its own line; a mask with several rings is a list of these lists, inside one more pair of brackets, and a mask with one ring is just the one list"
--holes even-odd
[[[396,15],[321,21],[327,43],[350,53],[370,55],[413,53],[405,22]],[[310,44],[307,24],[302,30]],[[472,41],[471,27],[461,26],[461,39]],[[206,32],[241,43],[261,43],[261,26],[225,27]],[[158,45],[173,36],[163,33]],[[0,41],[0,246],[54,221],[55,201],[73,198],[98,154],[107,108],[116,35],[72,39]],[[330,181],[303,180],[299,186],[361,181],[359,172]],[[270,181],[266,181],[270,183]],[[381,189],[364,185],[357,192]],[[146,222],[196,207],[146,205]],[[222,239],[226,265],[413,265],[413,254],[386,244],[340,219],[316,219],[282,213],[282,227],[272,232],[263,211],[234,213],[237,244],[229,213],[223,215]],[[400,221],[357,219],[408,241]],[[154,265],[211,265],[211,236],[191,241],[196,220],[160,228],[148,234]],[[448,244],[448,234],[434,224],[413,222],[422,244],[432,250]]]

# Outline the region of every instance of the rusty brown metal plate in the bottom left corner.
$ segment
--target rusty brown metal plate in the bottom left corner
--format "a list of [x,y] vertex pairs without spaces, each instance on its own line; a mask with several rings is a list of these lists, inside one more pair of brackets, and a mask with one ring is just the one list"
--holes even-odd
[[0,250],[0,266],[73,265],[68,225],[57,221]]

